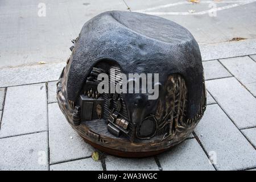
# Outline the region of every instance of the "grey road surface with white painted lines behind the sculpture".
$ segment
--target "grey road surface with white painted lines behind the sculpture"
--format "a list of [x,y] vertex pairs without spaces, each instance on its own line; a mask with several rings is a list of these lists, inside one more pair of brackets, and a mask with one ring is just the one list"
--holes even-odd
[[[38,15],[42,3],[46,16]],[[213,6],[218,9],[216,16],[206,12]],[[0,68],[65,61],[71,40],[79,35],[84,23],[110,10],[154,14],[172,20],[187,28],[199,44],[256,38],[256,0],[6,0],[0,1]]]

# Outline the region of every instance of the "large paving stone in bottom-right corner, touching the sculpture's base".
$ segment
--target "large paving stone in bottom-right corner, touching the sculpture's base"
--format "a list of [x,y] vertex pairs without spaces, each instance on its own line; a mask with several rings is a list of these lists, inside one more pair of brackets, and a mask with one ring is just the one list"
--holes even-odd
[[208,154],[216,154],[218,170],[256,167],[256,151],[217,105],[209,105],[195,129]]

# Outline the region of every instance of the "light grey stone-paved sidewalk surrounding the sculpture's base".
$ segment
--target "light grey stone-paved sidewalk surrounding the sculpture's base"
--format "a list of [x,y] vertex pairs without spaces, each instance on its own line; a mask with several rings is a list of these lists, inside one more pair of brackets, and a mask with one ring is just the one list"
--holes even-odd
[[64,61],[0,68],[0,170],[256,169],[256,40],[200,49],[208,90],[204,117],[191,138],[143,159],[91,158],[96,150],[56,103]]

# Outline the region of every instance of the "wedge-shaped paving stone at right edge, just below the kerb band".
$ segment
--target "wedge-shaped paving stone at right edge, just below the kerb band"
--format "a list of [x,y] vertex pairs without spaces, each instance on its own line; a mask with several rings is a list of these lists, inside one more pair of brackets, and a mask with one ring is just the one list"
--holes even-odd
[[256,96],[256,63],[250,57],[221,59],[221,63]]

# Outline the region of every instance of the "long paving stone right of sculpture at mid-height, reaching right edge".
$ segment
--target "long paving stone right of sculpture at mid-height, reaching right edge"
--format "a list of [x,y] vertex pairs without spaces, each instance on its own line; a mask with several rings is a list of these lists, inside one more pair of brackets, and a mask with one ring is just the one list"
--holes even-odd
[[239,129],[256,126],[256,99],[236,78],[209,80],[206,86]]

